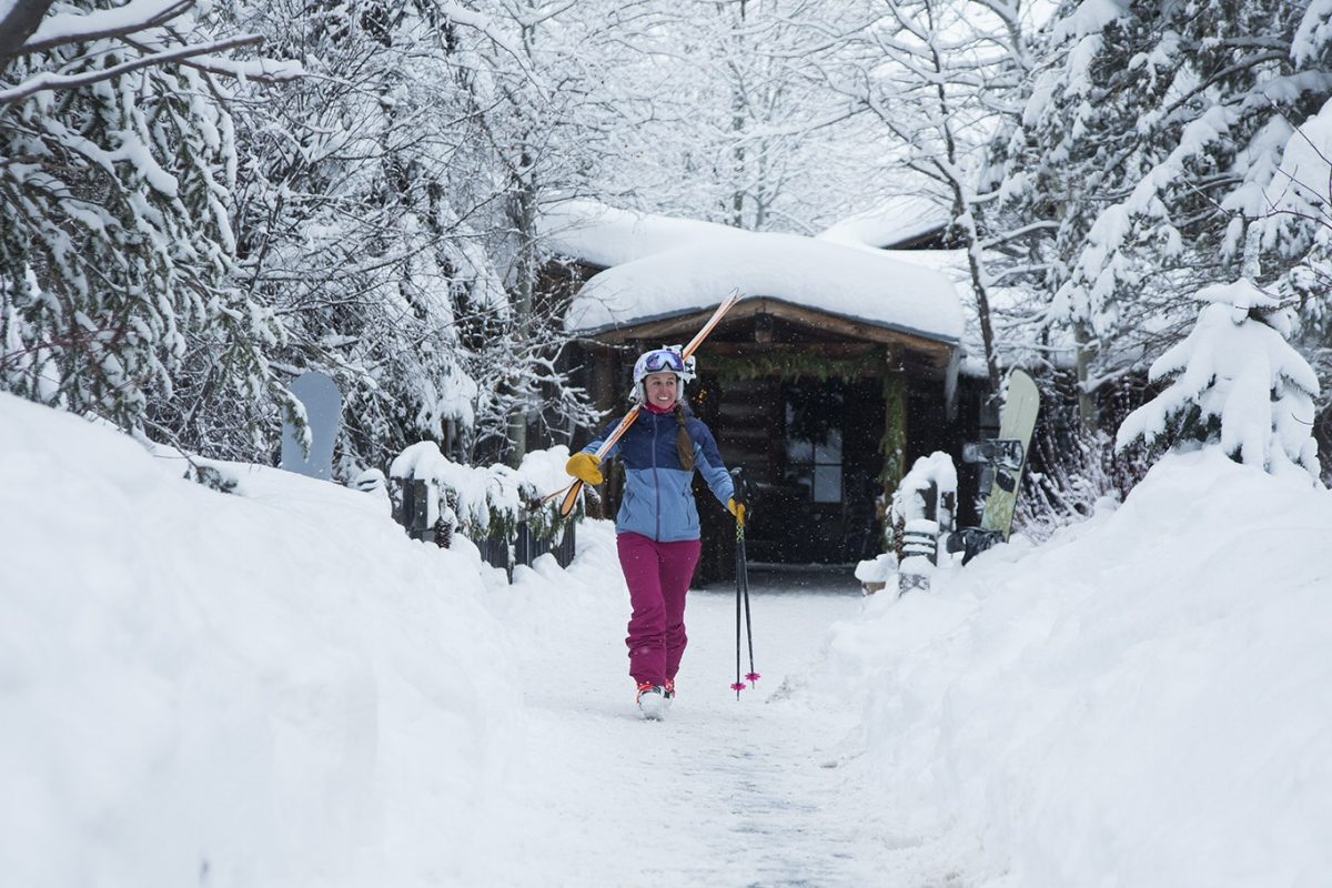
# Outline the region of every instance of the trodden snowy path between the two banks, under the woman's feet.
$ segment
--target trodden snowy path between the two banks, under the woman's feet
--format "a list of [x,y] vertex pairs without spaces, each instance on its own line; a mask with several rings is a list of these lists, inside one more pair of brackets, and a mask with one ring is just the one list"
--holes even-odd
[[802,687],[827,628],[860,612],[855,580],[755,571],[751,587],[759,687],[739,702],[729,688],[734,591],[691,591],[665,723],[633,707],[621,610],[589,608],[563,627],[563,662],[527,648],[525,668],[550,682],[527,699],[541,776],[525,779],[510,877],[539,881],[545,860],[546,884],[567,872],[587,885],[950,884],[946,867],[922,868],[922,843],[894,840],[888,803],[847,774],[859,755],[852,704]]

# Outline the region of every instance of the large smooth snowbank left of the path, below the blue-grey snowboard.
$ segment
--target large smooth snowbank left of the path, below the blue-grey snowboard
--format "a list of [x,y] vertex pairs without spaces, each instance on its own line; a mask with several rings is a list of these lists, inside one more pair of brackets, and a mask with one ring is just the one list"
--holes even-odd
[[181,470],[0,394],[3,881],[484,884],[522,752],[493,574],[382,495]]

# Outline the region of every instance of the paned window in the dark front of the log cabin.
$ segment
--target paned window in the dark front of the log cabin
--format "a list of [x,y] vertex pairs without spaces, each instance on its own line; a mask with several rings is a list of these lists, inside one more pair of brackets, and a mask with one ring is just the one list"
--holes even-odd
[[842,502],[842,391],[793,385],[786,391],[786,483],[813,502]]

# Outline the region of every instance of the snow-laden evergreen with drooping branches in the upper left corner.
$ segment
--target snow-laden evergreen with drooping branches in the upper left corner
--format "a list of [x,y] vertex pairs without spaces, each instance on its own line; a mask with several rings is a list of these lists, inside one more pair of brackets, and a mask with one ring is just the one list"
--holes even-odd
[[192,362],[220,370],[201,399],[285,395],[272,313],[230,277],[222,80],[294,73],[220,55],[258,37],[218,37],[190,7],[24,0],[0,15],[0,387],[186,442],[197,402],[169,427],[156,418]]

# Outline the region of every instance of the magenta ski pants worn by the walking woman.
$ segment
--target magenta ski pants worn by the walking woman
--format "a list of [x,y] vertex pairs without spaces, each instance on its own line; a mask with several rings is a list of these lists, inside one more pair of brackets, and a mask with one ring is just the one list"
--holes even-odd
[[619,566],[634,612],[629,618],[629,674],[642,684],[665,684],[679,671],[685,635],[685,594],[694,579],[702,542],[658,543],[642,534],[615,538]]

